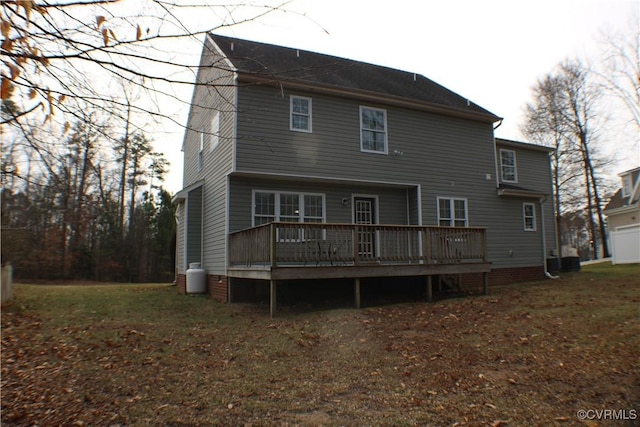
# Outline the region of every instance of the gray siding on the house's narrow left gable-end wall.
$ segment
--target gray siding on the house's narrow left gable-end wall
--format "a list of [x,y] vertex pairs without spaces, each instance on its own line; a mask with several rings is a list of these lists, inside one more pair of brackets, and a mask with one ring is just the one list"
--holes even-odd
[[[197,81],[213,86],[197,86],[188,117],[184,140],[185,187],[203,180],[202,264],[208,274],[226,274],[227,175],[233,169],[235,136],[234,74],[226,69],[209,40],[205,44]],[[219,142],[212,148],[212,118],[219,114]],[[205,133],[202,168],[198,153],[202,130]],[[180,264],[179,264],[180,266]]]

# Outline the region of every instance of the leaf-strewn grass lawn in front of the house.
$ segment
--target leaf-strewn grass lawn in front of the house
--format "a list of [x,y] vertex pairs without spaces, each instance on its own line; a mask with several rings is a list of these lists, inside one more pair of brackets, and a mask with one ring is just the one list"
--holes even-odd
[[[173,286],[17,285],[2,425],[635,425],[639,278],[596,264],[488,296],[274,319]],[[627,420],[578,417],[604,409]]]

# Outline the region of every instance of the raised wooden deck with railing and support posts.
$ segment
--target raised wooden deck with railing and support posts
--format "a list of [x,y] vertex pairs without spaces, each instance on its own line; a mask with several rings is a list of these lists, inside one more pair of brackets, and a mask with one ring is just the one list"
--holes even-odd
[[273,222],[229,235],[227,275],[271,282],[275,311],[278,280],[360,279],[483,273],[487,288],[486,229],[411,225]]

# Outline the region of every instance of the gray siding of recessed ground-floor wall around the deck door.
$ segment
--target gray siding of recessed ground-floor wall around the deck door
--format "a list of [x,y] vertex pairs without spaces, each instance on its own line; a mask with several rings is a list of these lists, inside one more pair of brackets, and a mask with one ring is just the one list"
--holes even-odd
[[[353,222],[352,196],[376,196],[381,224],[407,224],[406,188],[375,188],[356,184],[315,184],[296,180],[282,181],[267,178],[233,178],[230,184],[229,230],[231,232],[251,227],[252,191],[281,191],[324,194],[326,222],[350,224]],[[348,204],[342,205],[347,198]]]

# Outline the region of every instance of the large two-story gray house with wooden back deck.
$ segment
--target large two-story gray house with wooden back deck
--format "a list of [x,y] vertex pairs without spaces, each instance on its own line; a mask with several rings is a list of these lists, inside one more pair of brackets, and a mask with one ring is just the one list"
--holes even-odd
[[[556,253],[549,149],[418,74],[208,34],[183,142],[177,284],[541,279]],[[260,282],[262,281],[262,282]],[[264,282],[266,281],[266,282]],[[255,284],[257,283],[257,284]],[[254,285],[255,284],[255,285]],[[272,306],[272,309],[274,306]]]

